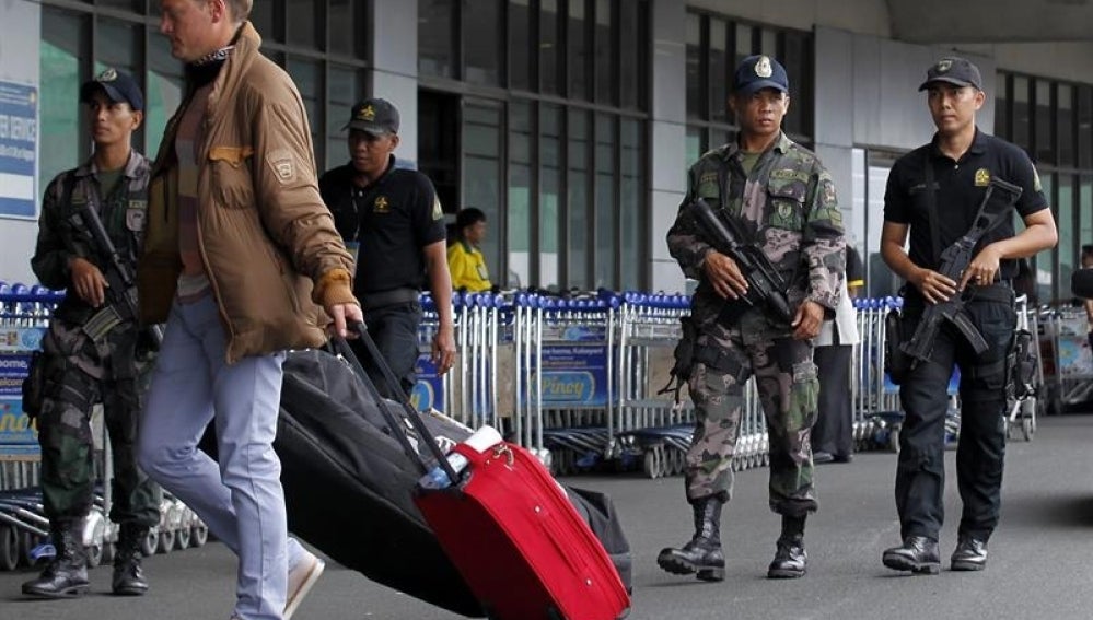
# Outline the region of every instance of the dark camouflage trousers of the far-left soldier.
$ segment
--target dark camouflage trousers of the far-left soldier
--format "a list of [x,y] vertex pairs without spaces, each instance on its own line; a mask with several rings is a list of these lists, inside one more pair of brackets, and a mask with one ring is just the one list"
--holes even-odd
[[[152,527],[160,522],[159,486],[137,467],[140,391],[136,337],[91,341],[78,327],[54,321],[43,340],[46,384],[38,414],[45,515],[60,524],[91,512],[95,484],[92,408],[103,405],[113,452],[111,520]],[[117,376],[115,376],[117,375]]]

